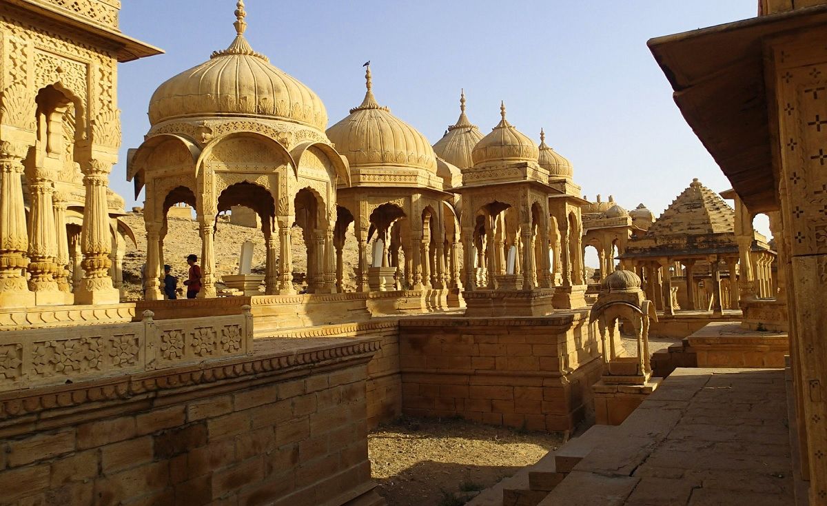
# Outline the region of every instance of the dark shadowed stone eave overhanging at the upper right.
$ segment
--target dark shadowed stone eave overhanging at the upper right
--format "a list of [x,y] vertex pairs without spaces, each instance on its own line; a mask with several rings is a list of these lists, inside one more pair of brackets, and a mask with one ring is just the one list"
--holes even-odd
[[820,5],[648,41],[686,122],[752,212],[778,206],[764,42],[825,25]]

